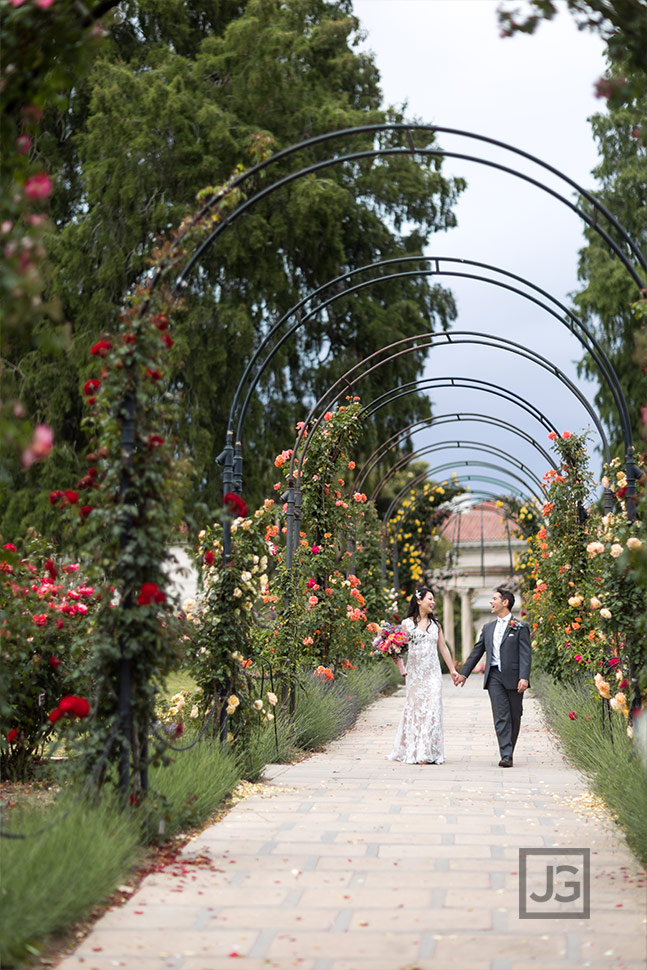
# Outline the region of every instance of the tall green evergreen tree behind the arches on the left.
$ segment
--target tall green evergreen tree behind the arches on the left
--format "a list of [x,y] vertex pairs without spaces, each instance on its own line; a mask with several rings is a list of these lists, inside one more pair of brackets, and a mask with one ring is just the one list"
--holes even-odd
[[[350,0],[130,0],[113,17],[110,40],[69,105],[48,112],[37,145],[56,185],[49,296],[60,302],[73,340],[62,358],[38,347],[11,361],[21,399],[54,427],[57,454],[26,474],[16,469],[5,485],[6,534],[27,524],[54,528],[42,496],[68,484],[85,447],[80,388],[94,376],[88,348],[113,328],[156,237],[179,223],[196,193],[244,165],[253,139],[278,150],[334,129],[403,120],[381,106],[375,64],[355,50],[361,34]],[[372,143],[367,135],[354,141]],[[299,164],[334,150],[310,151]],[[432,232],[454,225],[462,188],[462,180],[442,176],[438,158],[337,165],[270,196],[207,252],[174,321],[172,351],[196,496],[219,502],[215,458],[230,399],[268,327],[347,269],[420,252]],[[276,450],[291,443],[295,422],[323,389],[376,348],[454,315],[448,291],[408,279],[339,300],[286,342],[246,424],[252,500],[272,481]],[[415,379],[423,364],[422,351],[401,358],[355,393],[370,399]],[[402,399],[380,412],[365,447],[428,413],[422,396]]]

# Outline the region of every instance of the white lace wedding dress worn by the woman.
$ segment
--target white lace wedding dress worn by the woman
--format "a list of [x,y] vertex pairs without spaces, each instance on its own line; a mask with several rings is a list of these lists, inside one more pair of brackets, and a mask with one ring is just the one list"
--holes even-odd
[[407,617],[403,626],[409,640],[407,696],[393,751],[388,757],[407,764],[441,765],[445,749],[438,627],[432,620],[425,633],[411,617]]

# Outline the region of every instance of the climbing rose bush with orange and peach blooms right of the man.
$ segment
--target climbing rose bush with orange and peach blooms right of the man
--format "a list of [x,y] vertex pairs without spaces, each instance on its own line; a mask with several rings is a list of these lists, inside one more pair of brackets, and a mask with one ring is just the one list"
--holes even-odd
[[[529,538],[520,562],[528,622],[538,667],[558,681],[578,677],[583,668],[593,676],[615,658],[620,677],[612,686],[628,712],[633,692],[642,698],[647,692],[647,587],[629,571],[639,568],[647,530],[644,520],[627,517],[626,477],[617,458],[602,484],[616,493],[619,507],[603,515],[588,504],[594,482],[585,440],[564,432],[555,445],[557,469],[544,476],[544,525]],[[608,695],[609,685],[602,689]]]

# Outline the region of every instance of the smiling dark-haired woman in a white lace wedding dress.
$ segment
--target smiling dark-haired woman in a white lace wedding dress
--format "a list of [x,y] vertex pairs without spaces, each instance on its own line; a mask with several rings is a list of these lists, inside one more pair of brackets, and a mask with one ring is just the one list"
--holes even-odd
[[391,761],[441,765],[445,760],[443,739],[442,674],[438,650],[456,684],[459,676],[434,613],[435,598],[427,586],[411,597],[402,627],[407,632],[407,695],[395,737]]

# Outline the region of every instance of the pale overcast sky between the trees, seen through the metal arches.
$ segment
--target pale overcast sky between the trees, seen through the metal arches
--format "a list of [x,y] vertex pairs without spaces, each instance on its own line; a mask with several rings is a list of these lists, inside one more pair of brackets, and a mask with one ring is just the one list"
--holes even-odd
[[[584,187],[594,187],[590,173],[597,154],[587,118],[604,110],[604,102],[593,93],[605,68],[603,44],[596,35],[578,31],[566,10],[542,24],[534,36],[506,39],[499,36],[497,2],[492,0],[355,0],[354,8],[367,32],[363,46],[375,55],[386,104],[406,103],[409,118],[500,139]],[[567,185],[509,152],[456,136],[440,135],[439,143],[447,150],[487,152],[503,164],[521,164],[525,172],[548,179],[551,187],[574,200]],[[438,234],[427,252],[499,266],[570,305],[583,244],[578,217],[545,192],[485,166],[448,159],[444,171],[464,176],[469,184],[457,208],[458,227]],[[429,376],[492,381],[534,404],[560,431],[592,427],[584,407],[557,377],[503,349],[511,340],[548,357],[592,402],[596,385],[578,379],[574,366],[580,345],[559,321],[499,287],[470,280],[445,282],[458,302],[453,329],[501,340],[492,349],[435,348]],[[465,389],[435,390],[431,397],[436,415],[480,412],[518,426],[549,447],[542,426],[512,403]],[[483,423],[426,429],[417,436],[416,447],[458,437],[489,442],[527,463],[539,477],[546,470],[532,445]],[[592,447],[598,442],[596,432]],[[447,447],[429,461],[433,467],[478,457],[465,446]],[[500,462],[483,453],[480,457]],[[498,476],[492,470],[484,474]]]

